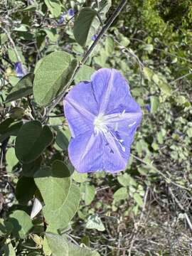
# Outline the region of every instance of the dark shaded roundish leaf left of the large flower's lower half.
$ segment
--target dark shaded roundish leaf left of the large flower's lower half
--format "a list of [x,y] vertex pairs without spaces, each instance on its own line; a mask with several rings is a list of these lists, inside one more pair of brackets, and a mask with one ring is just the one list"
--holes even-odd
[[31,121],[23,124],[16,137],[16,157],[22,163],[30,163],[41,155],[53,141],[53,134],[48,126]]

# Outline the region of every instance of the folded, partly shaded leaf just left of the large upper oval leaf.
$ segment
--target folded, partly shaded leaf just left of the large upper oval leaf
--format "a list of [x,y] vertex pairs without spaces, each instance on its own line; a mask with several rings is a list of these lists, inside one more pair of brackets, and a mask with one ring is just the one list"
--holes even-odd
[[13,87],[9,95],[6,97],[6,102],[11,102],[14,100],[21,99],[21,97],[26,97],[33,93],[33,74],[25,75],[18,83]]

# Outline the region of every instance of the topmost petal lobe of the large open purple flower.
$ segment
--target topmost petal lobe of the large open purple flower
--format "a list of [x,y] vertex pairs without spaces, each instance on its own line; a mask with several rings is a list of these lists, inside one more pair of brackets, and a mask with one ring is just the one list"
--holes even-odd
[[92,89],[102,114],[123,106],[131,97],[129,85],[122,74],[110,68],[101,68],[92,75]]

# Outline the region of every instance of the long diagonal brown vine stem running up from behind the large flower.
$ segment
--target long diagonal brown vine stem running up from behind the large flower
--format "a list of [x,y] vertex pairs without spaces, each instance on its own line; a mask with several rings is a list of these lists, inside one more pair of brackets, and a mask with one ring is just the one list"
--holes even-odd
[[117,16],[119,15],[119,13],[122,11],[122,9],[124,8],[124,6],[126,4],[127,4],[127,0],[119,1],[119,4],[118,4],[117,8],[114,10],[112,16],[110,16],[110,18],[107,20],[105,25],[102,27],[102,29],[101,29],[100,33],[98,34],[97,38],[92,43],[92,45],[90,46],[90,48],[87,50],[87,52],[85,53],[84,57],[80,61],[80,64],[77,66],[77,68],[75,68],[74,73],[73,73],[73,77],[71,78],[71,80],[66,85],[65,90],[60,95],[58,95],[58,97],[56,97],[55,100],[53,100],[53,103],[48,108],[48,110],[46,112],[46,117],[44,117],[43,121],[45,121],[45,119],[48,117],[48,114],[50,114],[50,112],[54,109],[54,107],[56,105],[58,105],[60,100],[63,99],[63,96],[65,95],[65,92],[68,90],[68,87],[70,87],[70,84],[73,81],[73,79],[75,78],[75,75],[77,75],[77,73],[80,70],[80,68],[82,67],[82,65],[86,63],[86,61],[90,57],[92,51],[97,46],[97,43],[99,43],[99,41],[102,38],[102,36],[107,32],[108,28],[110,28],[110,26],[112,25],[113,21],[115,20],[115,18],[117,18]]

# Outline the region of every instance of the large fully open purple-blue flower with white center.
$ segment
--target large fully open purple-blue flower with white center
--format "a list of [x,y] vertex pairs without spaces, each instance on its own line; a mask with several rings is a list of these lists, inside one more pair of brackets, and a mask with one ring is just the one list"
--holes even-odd
[[75,169],[81,173],[124,170],[142,110],[121,73],[97,70],[91,82],[75,85],[63,103],[72,135],[68,153]]

